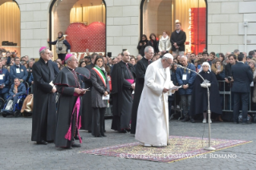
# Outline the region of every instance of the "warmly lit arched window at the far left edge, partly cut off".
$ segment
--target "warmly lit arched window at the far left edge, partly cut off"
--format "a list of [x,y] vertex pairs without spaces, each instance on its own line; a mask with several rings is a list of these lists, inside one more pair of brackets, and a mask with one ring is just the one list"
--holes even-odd
[[[2,3],[1,3],[2,2]],[[0,2],[0,47],[20,56],[20,10],[15,1]]]

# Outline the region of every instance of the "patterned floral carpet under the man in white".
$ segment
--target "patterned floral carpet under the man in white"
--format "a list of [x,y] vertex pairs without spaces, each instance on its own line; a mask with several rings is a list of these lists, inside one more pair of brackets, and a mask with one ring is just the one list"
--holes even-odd
[[[217,151],[250,142],[245,140],[211,139],[211,146],[216,148]],[[212,152],[204,149],[209,145],[208,138],[202,140],[202,138],[198,137],[169,136],[169,143],[170,145],[165,148],[148,148],[141,146],[139,142],[135,142],[105,148],[95,148],[83,151],[82,153],[168,163],[187,158],[204,158],[204,154]]]

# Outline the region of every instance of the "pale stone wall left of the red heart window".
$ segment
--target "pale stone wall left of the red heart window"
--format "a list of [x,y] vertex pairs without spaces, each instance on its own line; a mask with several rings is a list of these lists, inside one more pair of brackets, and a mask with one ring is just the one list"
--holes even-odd
[[39,48],[47,46],[48,9],[51,0],[16,0],[21,11],[21,56],[39,58]]

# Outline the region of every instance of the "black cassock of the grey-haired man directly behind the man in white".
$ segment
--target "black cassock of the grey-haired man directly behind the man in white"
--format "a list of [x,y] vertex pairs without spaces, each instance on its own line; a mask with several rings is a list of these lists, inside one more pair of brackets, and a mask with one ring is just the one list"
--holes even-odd
[[136,133],[136,121],[137,121],[137,110],[140,103],[140,95],[144,87],[144,77],[148,65],[152,63],[151,60],[145,59],[144,57],[136,63],[136,86],[134,92],[134,99],[132,104],[132,124],[131,133]]

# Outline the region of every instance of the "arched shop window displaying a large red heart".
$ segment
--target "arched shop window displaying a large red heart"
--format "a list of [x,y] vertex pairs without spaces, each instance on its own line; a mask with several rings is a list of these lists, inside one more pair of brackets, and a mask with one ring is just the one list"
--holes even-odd
[[[102,0],[54,0],[51,3],[50,41],[55,41],[58,32],[62,31],[75,55],[88,55],[92,52],[105,54],[105,24],[106,8]],[[51,48],[55,51],[55,46]]]

